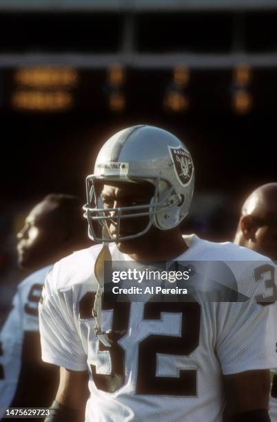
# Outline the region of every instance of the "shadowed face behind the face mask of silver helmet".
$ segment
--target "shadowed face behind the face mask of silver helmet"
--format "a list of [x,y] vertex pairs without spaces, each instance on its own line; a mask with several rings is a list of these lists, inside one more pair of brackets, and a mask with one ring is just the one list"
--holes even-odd
[[[103,208],[120,208],[134,205],[148,205],[154,195],[154,186],[150,183],[127,183],[127,182],[109,182],[100,187],[100,195],[103,200]],[[148,208],[144,208],[143,212],[147,212]],[[132,214],[141,212],[141,210],[123,211],[124,214]],[[110,217],[116,216],[116,212],[110,212]],[[130,236],[143,231],[150,219],[145,217],[121,218],[120,237]],[[108,227],[112,237],[116,237],[116,226],[118,222],[112,219],[108,222]],[[130,239],[133,241],[134,239]],[[124,241],[122,243],[130,242]]]

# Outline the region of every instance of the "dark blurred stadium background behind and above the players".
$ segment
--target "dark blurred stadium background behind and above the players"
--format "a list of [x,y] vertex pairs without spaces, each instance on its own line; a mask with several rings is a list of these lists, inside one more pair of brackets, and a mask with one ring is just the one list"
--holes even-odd
[[[221,7],[207,0],[195,8],[169,1],[163,10],[154,1],[146,9],[99,10],[96,3],[57,11],[53,2],[9,10],[0,1],[0,277],[10,286],[7,298],[26,274],[15,253],[25,215],[50,192],[78,194],[85,202],[85,176],[101,144],[126,126],[158,125],[188,146],[196,187],[184,230],[187,225],[201,237],[232,240],[243,199],[276,181],[276,1]],[[118,63],[124,78],[114,85],[107,72]],[[240,63],[251,70],[243,85],[234,79]],[[184,86],[174,85],[175,66],[189,69]],[[74,69],[78,81],[73,88],[20,86],[17,71],[34,67]],[[72,96],[70,108],[14,105],[20,90],[57,89]],[[240,89],[252,99],[244,112],[232,106]],[[172,90],[189,99],[187,110],[165,107]],[[110,107],[114,93],[124,99],[121,110]]]

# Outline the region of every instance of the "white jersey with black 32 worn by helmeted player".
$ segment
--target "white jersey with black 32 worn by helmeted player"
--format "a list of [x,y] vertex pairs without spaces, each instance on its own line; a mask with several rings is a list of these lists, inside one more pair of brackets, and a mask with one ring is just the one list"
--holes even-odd
[[[258,261],[267,261],[267,270],[274,264],[229,242],[194,235],[187,243],[176,260],[225,261],[249,300],[106,303],[101,328],[111,330],[110,348],[99,342],[92,317],[101,245],[62,259],[48,274],[39,305],[42,358],[89,370],[85,421],[218,422],[225,403],[222,374],[276,366],[276,308],[256,303],[265,290],[263,271],[254,277]],[[110,252],[114,261],[130,259],[116,245]],[[242,271],[233,261],[252,262]]]

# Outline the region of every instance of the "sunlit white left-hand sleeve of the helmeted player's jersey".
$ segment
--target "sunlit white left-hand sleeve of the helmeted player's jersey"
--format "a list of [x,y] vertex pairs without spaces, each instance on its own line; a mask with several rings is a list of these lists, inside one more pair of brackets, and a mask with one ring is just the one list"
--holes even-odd
[[87,356],[74,319],[72,297],[55,287],[57,265],[45,279],[39,303],[42,359],[69,370],[86,370]]

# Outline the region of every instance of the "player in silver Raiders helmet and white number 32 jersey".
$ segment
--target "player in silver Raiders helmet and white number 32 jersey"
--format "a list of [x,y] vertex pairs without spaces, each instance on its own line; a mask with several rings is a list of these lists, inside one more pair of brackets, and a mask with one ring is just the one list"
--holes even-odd
[[[101,245],[54,265],[39,305],[43,361],[59,365],[47,422],[269,421],[277,361],[275,305],[257,303],[269,259],[233,243],[183,237],[194,165],[173,134],[137,125],[114,134],[87,178],[90,237]],[[225,261],[243,303],[103,300],[103,263]],[[234,261],[243,262],[235,265]],[[255,279],[256,277],[256,279]],[[266,286],[263,286],[265,288]],[[259,292],[259,294],[258,294]]]

